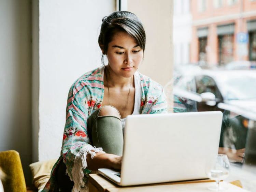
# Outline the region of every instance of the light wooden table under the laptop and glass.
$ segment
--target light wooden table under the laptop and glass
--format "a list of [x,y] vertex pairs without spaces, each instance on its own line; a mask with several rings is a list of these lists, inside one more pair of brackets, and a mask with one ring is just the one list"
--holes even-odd
[[[234,183],[236,184],[236,183]],[[207,187],[214,185],[212,180],[196,180],[196,181],[179,181],[169,183],[158,183],[143,186],[119,187],[113,182],[105,179],[99,174],[89,175],[89,192],[167,192],[167,191],[191,191],[191,192],[209,192]],[[248,192],[236,185],[222,182],[221,185],[226,186],[228,190],[222,192]]]

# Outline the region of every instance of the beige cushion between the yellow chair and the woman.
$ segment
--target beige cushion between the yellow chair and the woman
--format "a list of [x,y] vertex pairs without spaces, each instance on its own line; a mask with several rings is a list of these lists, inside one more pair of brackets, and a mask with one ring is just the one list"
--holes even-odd
[[33,183],[38,190],[43,189],[51,176],[53,165],[58,159],[51,159],[48,161],[39,161],[30,164]]

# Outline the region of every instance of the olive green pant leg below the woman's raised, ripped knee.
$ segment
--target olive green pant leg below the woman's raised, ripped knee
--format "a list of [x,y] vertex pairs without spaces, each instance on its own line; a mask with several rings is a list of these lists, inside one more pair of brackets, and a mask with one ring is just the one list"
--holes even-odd
[[122,156],[123,154],[123,127],[119,118],[114,116],[98,116],[100,109],[88,118],[88,134],[96,147],[109,154]]

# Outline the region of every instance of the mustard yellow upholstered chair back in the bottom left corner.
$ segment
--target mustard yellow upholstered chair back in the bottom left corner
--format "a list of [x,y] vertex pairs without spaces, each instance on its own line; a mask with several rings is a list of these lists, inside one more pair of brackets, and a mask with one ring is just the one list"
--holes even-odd
[[6,174],[2,181],[6,192],[26,192],[26,182],[19,153],[15,150],[0,152],[0,167]]

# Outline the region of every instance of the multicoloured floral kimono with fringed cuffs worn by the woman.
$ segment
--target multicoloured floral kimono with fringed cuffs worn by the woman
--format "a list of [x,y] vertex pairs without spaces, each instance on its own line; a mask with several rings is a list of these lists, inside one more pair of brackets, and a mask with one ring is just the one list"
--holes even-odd
[[[61,155],[55,163],[51,178],[46,183],[43,192],[58,191],[56,168],[63,161],[67,166],[67,174],[74,181],[72,191],[88,191],[87,154],[91,158],[102,148],[91,145],[87,133],[87,119],[101,107],[104,94],[104,67],[89,71],[77,79],[70,88],[66,109],[66,124],[63,134]],[[141,114],[166,113],[166,96],[160,84],[139,74],[141,79]]]

